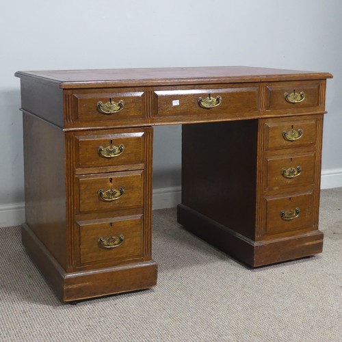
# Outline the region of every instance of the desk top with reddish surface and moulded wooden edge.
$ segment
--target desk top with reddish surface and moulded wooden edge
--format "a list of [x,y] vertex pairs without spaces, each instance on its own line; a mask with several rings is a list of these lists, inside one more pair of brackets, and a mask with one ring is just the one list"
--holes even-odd
[[255,68],[250,66],[18,71],[16,76],[34,77],[48,82],[58,83],[60,88],[63,89],[293,81],[332,78],[330,73]]

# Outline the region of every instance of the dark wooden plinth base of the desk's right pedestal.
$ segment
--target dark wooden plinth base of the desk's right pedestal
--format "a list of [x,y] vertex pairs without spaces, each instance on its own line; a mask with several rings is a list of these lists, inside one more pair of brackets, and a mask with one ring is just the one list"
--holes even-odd
[[178,222],[187,231],[252,267],[309,257],[323,248],[321,231],[252,241],[185,205],[179,205],[177,209]]

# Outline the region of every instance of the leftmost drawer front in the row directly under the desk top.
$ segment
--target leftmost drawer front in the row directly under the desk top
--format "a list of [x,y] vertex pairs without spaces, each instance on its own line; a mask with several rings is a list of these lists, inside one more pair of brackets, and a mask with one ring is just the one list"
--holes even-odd
[[75,121],[120,120],[144,118],[145,93],[127,90],[85,90],[73,94]]

